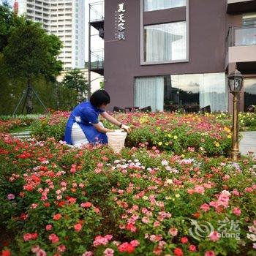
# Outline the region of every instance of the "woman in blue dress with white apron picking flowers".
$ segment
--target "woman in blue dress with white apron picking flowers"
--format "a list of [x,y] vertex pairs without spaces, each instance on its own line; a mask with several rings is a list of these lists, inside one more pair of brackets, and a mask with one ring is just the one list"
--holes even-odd
[[99,114],[110,123],[124,129],[126,132],[130,132],[127,125],[117,121],[116,118],[105,111],[109,103],[110,96],[108,92],[98,90],[91,95],[89,102],[82,102],[76,106],[66,125],[64,140],[67,144],[80,146],[87,143],[108,143],[106,133],[114,130],[103,127],[98,120]]

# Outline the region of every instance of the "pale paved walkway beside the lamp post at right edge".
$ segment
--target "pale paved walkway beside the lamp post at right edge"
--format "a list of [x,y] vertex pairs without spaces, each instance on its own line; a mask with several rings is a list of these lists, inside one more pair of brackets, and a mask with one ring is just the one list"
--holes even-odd
[[256,157],[256,132],[239,132],[243,136],[240,141],[241,154],[246,155],[248,151],[254,152]]

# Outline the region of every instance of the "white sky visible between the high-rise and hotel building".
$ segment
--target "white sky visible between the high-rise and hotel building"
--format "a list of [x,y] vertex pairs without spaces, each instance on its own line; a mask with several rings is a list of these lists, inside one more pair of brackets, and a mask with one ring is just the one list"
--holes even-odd
[[[2,3],[3,0],[0,0],[0,3]],[[18,0],[19,1],[19,0]],[[85,1],[85,6],[86,6],[86,26],[85,26],[85,40],[86,40],[86,61],[88,61],[88,42],[89,42],[89,35],[88,35],[88,30],[89,30],[89,4],[99,2],[99,0],[84,0]],[[9,3],[11,6],[13,6],[13,3],[15,0],[9,0]],[[97,30],[92,29],[91,34],[98,34]],[[91,37],[91,45],[93,45],[92,50],[96,49],[102,49],[104,48],[104,41],[99,38],[99,37]]]

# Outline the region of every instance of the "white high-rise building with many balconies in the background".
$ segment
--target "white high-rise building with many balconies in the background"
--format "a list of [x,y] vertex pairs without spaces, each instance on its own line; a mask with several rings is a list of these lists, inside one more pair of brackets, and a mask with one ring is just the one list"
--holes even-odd
[[[42,23],[63,42],[64,69],[84,68],[85,0],[18,0],[18,13]],[[16,4],[17,5],[17,4]]]

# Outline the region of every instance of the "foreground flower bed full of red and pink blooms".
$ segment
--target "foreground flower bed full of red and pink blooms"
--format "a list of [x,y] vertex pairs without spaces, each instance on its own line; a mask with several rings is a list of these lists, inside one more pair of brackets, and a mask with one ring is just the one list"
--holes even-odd
[[0,135],[3,255],[255,255],[256,162]]

